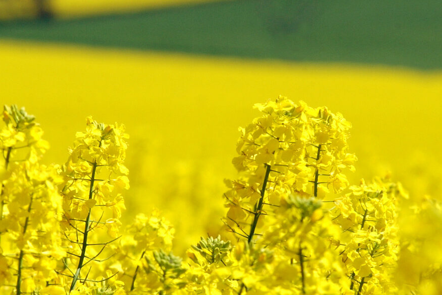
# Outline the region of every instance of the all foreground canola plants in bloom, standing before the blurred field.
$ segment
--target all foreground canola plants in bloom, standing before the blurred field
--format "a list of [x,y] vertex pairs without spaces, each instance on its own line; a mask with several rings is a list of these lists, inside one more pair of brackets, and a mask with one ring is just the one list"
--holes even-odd
[[[351,184],[351,124],[280,96],[240,128],[220,236],[171,252],[160,212],[122,224],[121,124],[86,119],[63,165],[32,115],[0,131],[0,291],[11,294],[440,294],[442,204],[386,177]],[[405,184],[405,187],[407,184]],[[204,210],[204,208],[202,208]],[[126,218],[127,219],[127,218]]]

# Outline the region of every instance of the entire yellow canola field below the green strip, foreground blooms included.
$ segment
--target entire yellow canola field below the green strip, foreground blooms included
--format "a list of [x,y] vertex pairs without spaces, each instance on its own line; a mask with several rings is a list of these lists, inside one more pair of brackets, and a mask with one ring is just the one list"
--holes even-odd
[[0,64],[0,293],[442,293],[442,72],[19,41]]

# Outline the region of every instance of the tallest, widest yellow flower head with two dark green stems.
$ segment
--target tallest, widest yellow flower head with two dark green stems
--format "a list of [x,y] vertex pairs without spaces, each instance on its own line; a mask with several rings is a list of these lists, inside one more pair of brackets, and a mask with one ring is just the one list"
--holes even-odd
[[240,128],[232,162],[241,178],[225,193],[226,224],[249,243],[263,216],[290,193],[322,199],[346,188],[342,171],[356,160],[347,153],[350,124],[339,113],[281,96],[255,107],[263,115]]

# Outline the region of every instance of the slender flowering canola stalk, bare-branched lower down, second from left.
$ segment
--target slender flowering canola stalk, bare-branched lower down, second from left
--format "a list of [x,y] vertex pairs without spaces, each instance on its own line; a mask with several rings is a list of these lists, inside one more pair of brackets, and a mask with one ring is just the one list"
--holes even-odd
[[[63,166],[63,229],[67,254],[60,274],[70,278],[69,292],[91,292],[98,283],[111,282],[116,273],[106,273],[100,262],[108,259],[107,247],[116,241],[121,211],[125,209],[122,191],[129,188],[126,156],[128,135],[124,126],[86,119],[86,131],[77,132],[69,158]],[[108,257],[103,258],[107,254]],[[118,286],[106,286],[118,288]]]

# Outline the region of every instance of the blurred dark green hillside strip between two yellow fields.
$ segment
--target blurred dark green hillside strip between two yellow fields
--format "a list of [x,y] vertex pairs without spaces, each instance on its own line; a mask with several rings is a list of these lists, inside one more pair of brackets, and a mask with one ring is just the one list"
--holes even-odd
[[75,20],[0,38],[317,62],[442,68],[440,0],[245,0]]

